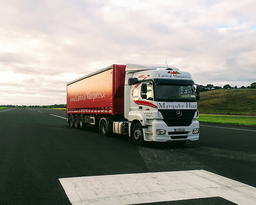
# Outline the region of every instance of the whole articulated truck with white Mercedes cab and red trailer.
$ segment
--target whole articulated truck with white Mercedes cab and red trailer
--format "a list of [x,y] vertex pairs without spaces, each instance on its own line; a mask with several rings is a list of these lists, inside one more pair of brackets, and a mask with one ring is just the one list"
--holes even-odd
[[67,122],[77,129],[93,125],[105,137],[128,134],[139,146],[182,145],[199,140],[200,88],[175,66],[113,64],[67,84]]

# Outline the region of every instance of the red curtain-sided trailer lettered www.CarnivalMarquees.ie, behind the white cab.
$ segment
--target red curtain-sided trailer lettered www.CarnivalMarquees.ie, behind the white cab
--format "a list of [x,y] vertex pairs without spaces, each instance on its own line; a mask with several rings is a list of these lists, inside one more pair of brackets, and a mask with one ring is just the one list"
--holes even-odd
[[68,83],[67,121],[77,127],[80,121],[96,125],[102,117],[124,116],[125,68],[114,64]]

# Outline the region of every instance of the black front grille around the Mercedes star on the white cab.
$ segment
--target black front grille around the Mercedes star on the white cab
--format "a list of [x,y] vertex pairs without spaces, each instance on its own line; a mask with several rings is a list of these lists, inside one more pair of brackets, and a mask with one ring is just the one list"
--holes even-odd
[[159,109],[158,111],[164,117],[163,121],[168,127],[189,126],[195,116],[196,110],[182,110],[182,115],[177,116],[178,110]]

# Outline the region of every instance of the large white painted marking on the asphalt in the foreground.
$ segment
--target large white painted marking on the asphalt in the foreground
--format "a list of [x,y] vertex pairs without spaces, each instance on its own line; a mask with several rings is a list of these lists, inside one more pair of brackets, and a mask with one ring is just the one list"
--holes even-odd
[[72,205],[126,205],[222,197],[255,205],[256,188],[205,170],[59,179]]

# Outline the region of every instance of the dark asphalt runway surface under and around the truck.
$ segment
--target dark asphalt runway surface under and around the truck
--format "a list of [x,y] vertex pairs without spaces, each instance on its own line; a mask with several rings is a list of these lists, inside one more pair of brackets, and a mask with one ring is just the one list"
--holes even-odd
[[[60,118],[60,117],[63,118]],[[204,169],[256,187],[256,127],[200,123],[181,147],[70,128],[65,112],[0,110],[0,204],[71,204],[59,178]],[[153,204],[233,204],[205,198]]]

